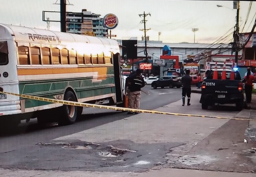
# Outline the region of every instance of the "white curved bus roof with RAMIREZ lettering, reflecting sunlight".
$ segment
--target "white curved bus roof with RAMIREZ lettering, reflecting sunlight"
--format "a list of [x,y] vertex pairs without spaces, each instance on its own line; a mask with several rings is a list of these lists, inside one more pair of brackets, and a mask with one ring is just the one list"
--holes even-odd
[[[74,50],[120,53],[119,43],[114,39],[72,33],[49,31],[0,23],[0,41],[15,40],[18,46],[57,47]],[[14,38],[13,38],[14,36]],[[39,45],[39,46],[38,46]]]

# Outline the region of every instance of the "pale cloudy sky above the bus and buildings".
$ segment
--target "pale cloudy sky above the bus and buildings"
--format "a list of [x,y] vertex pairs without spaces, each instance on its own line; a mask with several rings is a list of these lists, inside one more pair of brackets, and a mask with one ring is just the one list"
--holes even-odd
[[[46,29],[46,22],[42,21],[42,11],[59,11],[60,5],[54,3],[60,0],[0,0],[0,23],[21,25],[26,27]],[[111,30],[117,35],[113,39],[129,39],[138,37],[141,40],[144,33],[139,29],[144,26],[140,23],[139,14],[150,13],[146,17],[146,28],[150,40],[159,40],[164,43],[194,42],[192,28],[198,28],[195,33],[195,42],[211,44],[225,33],[224,40],[232,40],[232,31],[236,23],[236,10],[233,10],[233,1],[174,1],[174,0],[69,0],[68,12],[82,12],[87,9],[92,13],[114,13],[118,17],[118,26]],[[240,33],[246,21],[249,1],[240,2]],[[223,7],[217,7],[221,5]],[[256,2],[252,3],[251,11],[242,32],[250,32],[254,22]],[[58,13],[46,13],[51,20],[60,20]],[[253,22],[251,23],[251,21]],[[250,24],[251,23],[251,24]],[[50,22],[50,30],[60,31],[59,22]],[[225,37],[226,37],[225,36]]]

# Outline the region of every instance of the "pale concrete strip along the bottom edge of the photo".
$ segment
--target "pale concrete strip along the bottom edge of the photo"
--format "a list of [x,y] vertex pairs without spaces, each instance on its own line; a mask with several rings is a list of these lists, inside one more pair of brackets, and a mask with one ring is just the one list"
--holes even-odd
[[234,172],[220,172],[220,171],[202,171],[202,170],[186,170],[165,168],[162,170],[150,170],[145,173],[124,173],[124,172],[90,172],[90,171],[47,171],[47,170],[20,170],[20,169],[1,169],[1,177],[256,177],[254,173],[234,173]]

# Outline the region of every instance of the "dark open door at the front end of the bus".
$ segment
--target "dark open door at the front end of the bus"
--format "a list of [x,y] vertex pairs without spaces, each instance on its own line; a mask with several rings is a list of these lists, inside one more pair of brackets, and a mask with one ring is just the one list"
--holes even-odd
[[119,54],[113,54],[113,64],[114,64],[114,78],[115,78],[115,93],[116,93],[116,103],[123,102],[123,88],[122,84],[122,73],[119,61]]

